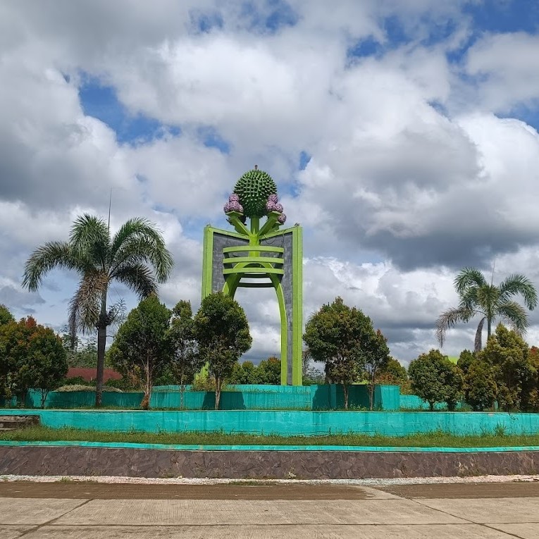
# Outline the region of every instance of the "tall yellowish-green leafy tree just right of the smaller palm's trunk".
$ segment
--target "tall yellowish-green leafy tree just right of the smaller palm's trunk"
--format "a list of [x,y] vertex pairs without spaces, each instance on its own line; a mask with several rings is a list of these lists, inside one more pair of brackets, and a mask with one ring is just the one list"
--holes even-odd
[[494,368],[500,407],[504,411],[521,409],[526,401],[523,390],[533,384],[536,376],[528,345],[521,335],[498,324],[478,359]]

